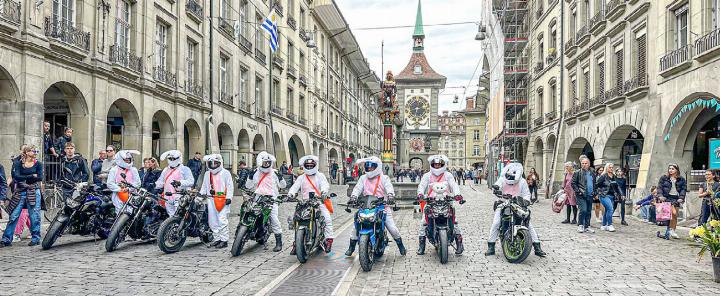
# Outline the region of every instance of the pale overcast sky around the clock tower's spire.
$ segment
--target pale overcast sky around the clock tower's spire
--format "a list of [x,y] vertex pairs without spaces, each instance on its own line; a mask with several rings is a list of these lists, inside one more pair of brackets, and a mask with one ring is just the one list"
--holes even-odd
[[[385,71],[397,74],[407,65],[412,54],[413,27],[362,30],[370,27],[414,26],[418,0],[335,0],[360,43],[370,67],[380,77],[380,44],[385,41]],[[425,23],[425,55],[433,69],[447,77],[440,96],[442,110],[460,110],[464,100],[453,104],[454,95],[463,97],[462,88],[470,84],[466,96],[477,91],[477,75],[473,71],[480,60],[482,47],[475,41],[477,25],[428,26],[480,20],[477,0],[422,0]],[[472,79],[472,82],[470,81]]]

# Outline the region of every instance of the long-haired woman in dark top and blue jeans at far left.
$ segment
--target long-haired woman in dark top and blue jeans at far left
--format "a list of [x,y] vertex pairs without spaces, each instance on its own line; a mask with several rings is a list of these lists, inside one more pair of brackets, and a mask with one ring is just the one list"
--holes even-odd
[[12,178],[14,191],[7,203],[10,219],[3,233],[0,247],[12,245],[15,225],[23,208],[30,215],[30,233],[32,239],[28,246],[40,244],[40,182],[43,180],[42,163],[37,160],[37,149],[33,145],[23,145],[19,158],[13,161]]

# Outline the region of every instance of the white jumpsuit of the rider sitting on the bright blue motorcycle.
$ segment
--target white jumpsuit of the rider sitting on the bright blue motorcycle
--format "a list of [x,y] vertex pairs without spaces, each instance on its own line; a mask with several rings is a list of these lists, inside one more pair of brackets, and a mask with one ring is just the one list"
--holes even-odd
[[[377,188],[377,190],[375,190],[375,188]],[[392,183],[390,182],[390,177],[387,175],[380,175],[374,178],[368,178],[367,175],[362,175],[360,176],[360,179],[358,179],[357,184],[355,184],[351,196],[358,197],[361,195],[384,197],[387,201],[390,196],[395,196],[395,188],[393,188]],[[393,239],[397,241],[401,238],[400,230],[395,225],[395,219],[393,219],[392,213],[392,207],[390,205],[385,205],[385,228],[387,228],[388,232],[390,232]],[[358,239],[357,231],[353,231],[350,234],[350,239]]]

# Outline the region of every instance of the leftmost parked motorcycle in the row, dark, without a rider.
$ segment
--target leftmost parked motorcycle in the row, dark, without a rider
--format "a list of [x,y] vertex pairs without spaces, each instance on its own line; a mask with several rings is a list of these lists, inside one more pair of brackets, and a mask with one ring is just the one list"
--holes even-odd
[[90,186],[87,182],[73,184],[68,180],[61,180],[60,183],[75,189],[72,196],[65,199],[64,206],[50,223],[43,237],[43,250],[52,248],[63,233],[107,238],[115,220],[115,208],[108,197],[111,192]]

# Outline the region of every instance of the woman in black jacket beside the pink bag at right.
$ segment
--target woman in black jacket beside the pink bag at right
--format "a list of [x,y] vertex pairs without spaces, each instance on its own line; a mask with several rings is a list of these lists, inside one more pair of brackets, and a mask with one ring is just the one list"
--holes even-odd
[[665,235],[661,235],[660,231],[658,231],[657,236],[665,239],[670,237],[677,239],[679,238],[675,232],[677,228],[677,211],[680,205],[685,202],[685,195],[687,194],[687,181],[680,175],[680,167],[677,164],[671,163],[668,165],[667,174],[660,177],[658,188],[660,189],[660,201],[671,203],[672,216],[665,229]]

